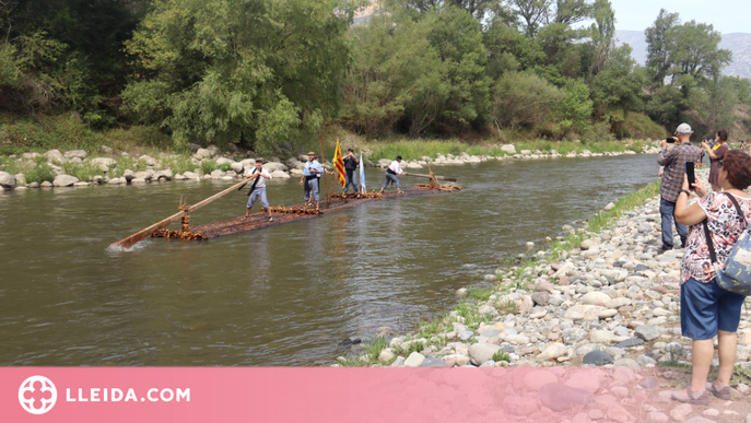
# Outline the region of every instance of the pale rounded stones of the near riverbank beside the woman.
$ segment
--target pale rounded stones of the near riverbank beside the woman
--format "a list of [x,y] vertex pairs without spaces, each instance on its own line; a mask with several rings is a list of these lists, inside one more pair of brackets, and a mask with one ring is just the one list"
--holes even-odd
[[[699,174],[706,178],[708,173]],[[529,266],[484,275],[495,280],[492,287],[460,289],[457,294],[466,299],[455,310],[421,325],[419,333],[389,339],[375,360],[363,354],[355,362],[407,367],[690,364],[690,340],[680,332],[683,250],[658,255],[658,208],[659,198],[649,198],[599,233],[564,226],[584,240],[539,251]],[[738,364],[748,369],[750,319],[747,307],[738,331]]]

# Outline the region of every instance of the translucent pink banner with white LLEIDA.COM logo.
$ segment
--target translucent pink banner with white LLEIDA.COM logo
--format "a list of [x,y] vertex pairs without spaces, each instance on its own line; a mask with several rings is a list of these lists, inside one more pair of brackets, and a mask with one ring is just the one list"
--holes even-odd
[[[5,367],[0,421],[667,422],[706,409],[674,415],[670,391],[689,381],[682,369],[629,367]],[[748,413],[734,409],[750,402],[738,388],[730,403],[711,397],[725,422]]]

